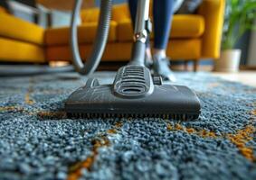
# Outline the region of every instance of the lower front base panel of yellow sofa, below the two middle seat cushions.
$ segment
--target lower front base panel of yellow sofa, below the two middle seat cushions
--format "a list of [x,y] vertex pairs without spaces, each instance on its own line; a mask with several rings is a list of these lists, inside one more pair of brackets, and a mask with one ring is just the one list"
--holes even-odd
[[[81,44],[80,54],[82,59],[90,55],[91,44]],[[189,49],[189,50],[184,50]],[[131,58],[132,42],[108,43],[104,50],[102,61],[127,61]],[[201,40],[176,39],[169,40],[166,49],[167,56],[172,59],[195,59],[201,56]],[[69,45],[51,46],[45,50],[47,60],[71,60],[71,48]]]

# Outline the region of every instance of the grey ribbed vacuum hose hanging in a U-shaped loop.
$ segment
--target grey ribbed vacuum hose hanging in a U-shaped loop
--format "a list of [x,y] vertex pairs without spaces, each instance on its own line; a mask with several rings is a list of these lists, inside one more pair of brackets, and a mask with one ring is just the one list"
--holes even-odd
[[111,16],[112,0],[101,0],[100,3],[100,19],[96,40],[93,44],[89,58],[86,60],[86,65],[83,64],[78,45],[77,37],[77,22],[79,20],[82,0],[76,0],[71,17],[71,53],[72,62],[76,71],[82,75],[89,75],[99,66],[100,59],[106,47],[109,35],[109,22]]

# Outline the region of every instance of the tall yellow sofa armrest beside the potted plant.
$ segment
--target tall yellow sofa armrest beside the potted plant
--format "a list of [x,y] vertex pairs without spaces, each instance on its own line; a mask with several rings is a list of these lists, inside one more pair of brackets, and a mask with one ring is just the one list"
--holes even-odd
[[204,35],[202,41],[202,58],[219,58],[225,0],[203,0],[198,14],[204,16]]

